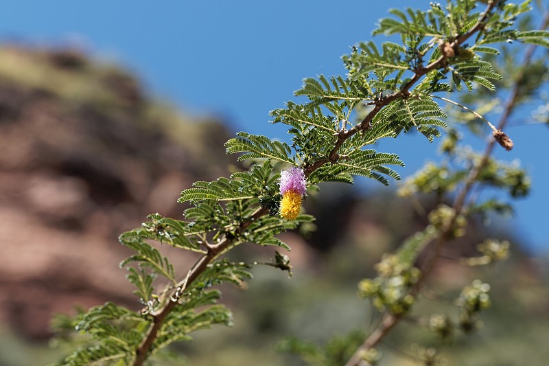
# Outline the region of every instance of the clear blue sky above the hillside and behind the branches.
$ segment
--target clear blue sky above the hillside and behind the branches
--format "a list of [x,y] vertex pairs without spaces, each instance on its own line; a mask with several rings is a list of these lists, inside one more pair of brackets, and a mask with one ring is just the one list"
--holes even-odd
[[[19,0],[3,4],[0,37],[84,45],[95,56],[130,67],[159,98],[187,112],[220,115],[235,131],[287,139],[283,125],[268,124],[268,112],[292,99],[303,78],[344,73],[340,56],[371,38],[375,22],[388,8],[410,3]],[[413,3],[425,8],[429,1]],[[516,147],[511,153],[498,152],[498,157],[520,159],[533,174],[533,193],[517,204],[513,225],[531,248],[548,251],[544,209],[549,174],[541,159],[547,156],[549,128],[517,126],[508,133]],[[404,157],[407,167],[399,170],[401,175],[411,174],[430,157],[436,159],[436,144],[415,137],[402,140],[397,146],[382,145],[382,150]],[[373,187],[365,185],[364,190]]]

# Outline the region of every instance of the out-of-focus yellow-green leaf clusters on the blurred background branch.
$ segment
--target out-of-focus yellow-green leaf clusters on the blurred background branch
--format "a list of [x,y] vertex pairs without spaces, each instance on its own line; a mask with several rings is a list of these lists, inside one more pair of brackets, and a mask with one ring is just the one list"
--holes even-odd
[[[418,295],[423,295],[434,301],[448,303],[449,297],[438,295],[425,286],[419,286],[425,281],[425,273],[429,268],[425,266],[425,258],[419,261],[422,253],[432,255],[428,248],[436,248],[456,240],[465,235],[470,222],[477,217],[489,218],[493,212],[502,213],[509,211],[510,205],[495,198],[477,199],[463,206],[448,206],[443,202],[448,194],[463,186],[476,187],[477,190],[490,187],[500,190],[509,190],[509,196],[517,197],[527,194],[527,185],[524,183],[526,173],[516,164],[483,156],[472,152],[471,148],[458,147],[459,136],[456,133],[442,142],[441,151],[451,157],[452,163],[444,161],[441,165],[427,163],[414,176],[406,179],[400,188],[402,196],[417,200],[420,194],[434,194],[435,202],[440,203],[430,212],[422,207],[419,211],[428,218],[429,224],[423,231],[418,231],[405,240],[395,253],[386,253],[382,261],[375,266],[377,277],[363,279],[358,284],[359,295],[371,299],[373,306],[379,311],[406,316],[412,312],[412,305],[417,301]],[[471,166],[478,172],[471,174]],[[468,180],[469,179],[469,180]],[[471,181],[470,179],[474,179]],[[467,191],[465,191],[467,192]],[[518,193],[519,192],[519,193]],[[419,201],[417,205],[420,205]],[[456,208],[457,207],[457,208]],[[430,247],[429,247],[430,246]],[[492,264],[506,259],[509,256],[509,242],[495,239],[484,240],[476,247],[480,255],[472,255],[466,258],[454,258],[459,264],[465,266],[480,266]],[[436,249],[431,249],[431,251]],[[423,266],[418,262],[423,262]],[[454,329],[465,333],[472,332],[481,327],[480,311],[490,305],[488,284],[476,280],[471,285],[463,288],[460,295],[452,301],[457,307],[456,318],[450,315],[433,313],[429,315],[410,314],[410,319],[423,328],[439,334],[441,341],[448,341],[454,334]],[[421,314],[421,310],[419,310]],[[417,358],[426,360],[436,359],[436,350],[417,348]]]

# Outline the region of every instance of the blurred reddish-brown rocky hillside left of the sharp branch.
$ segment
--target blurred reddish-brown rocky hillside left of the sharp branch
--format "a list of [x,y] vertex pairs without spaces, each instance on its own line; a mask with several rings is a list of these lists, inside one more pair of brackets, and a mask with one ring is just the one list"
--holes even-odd
[[226,175],[227,139],[115,65],[0,48],[0,323],[40,339],[52,312],[127,301],[117,236],[180,217],[183,187]]

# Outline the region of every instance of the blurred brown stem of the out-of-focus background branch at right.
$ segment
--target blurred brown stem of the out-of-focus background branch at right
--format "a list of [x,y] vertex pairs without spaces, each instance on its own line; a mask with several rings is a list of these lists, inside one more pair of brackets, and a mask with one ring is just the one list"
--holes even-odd
[[[487,9],[488,12],[489,9]],[[485,12],[484,18],[487,14]],[[480,23],[480,21],[479,21]],[[544,14],[544,22],[541,25],[541,29],[546,29],[549,24],[549,12],[546,12]],[[522,62],[522,69],[526,67],[530,63],[530,60],[532,59],[533,53],[535,51],[536,45],[531,45],[526,50],[526,53],[524,54],[524,60]],[[502,130],[504,126],[506,126],[507,122],[509,122],[509,116],[511,113],[513,113],[513,109],[515,108],[517,104],[517,100],[519,97],[519,84],[524,78],[524,71],[521,71],[516,80],[515,85],[513,87],[513,90],[509,94],[509,97],[507,98],[505,102],[505,108],[502,113],[502,116],[500,117],[500,122],[498,124],[498,130]],[[492,154],[493,148],[495,146],[495,139],[491,139],[489,143],[487,144],[486,150],[484,150],[484,154],[482,155],[482,159],[480,163],[471,170],[469,176],[467,177],[467,183],[465,183],[465,186],[462,190],[460,190],[458,196],[456,196],[456,199],[454,200],[454,204],[452,207],[454,208],[454,215],[452,215],[451,220],[447,222],[447,225],[441,229],[441,235],[439,236],[439,239],[436,240],[436,243],[434,244],[434,251],[431,252],[430,257],[423,262],[423,265],[421,266],[421,278],[419,281],[414,284],[414,287],[410,290],[410,293],[412,295],[417,295],[419,292],[419,289],[421,288],[421,285],[425,281],[425,279],[428,277],[428,275],[431,273],[432,269],[434,268],[434,265],[436,264],[437,260],[441,256],[441,249],[444,247],[444,244],[446,244],[449,240],[450,233],[452,231],[452,227],[454,226],[454,223],[456,222],[456,219],[458,218],[459,214],[463,210],[463,207],[465,206],[465,200],[469,193],[471,192],[471,189],[478,177],[478,174],[484,169],[484,166],[487,164],[489,157]],[[379,341],[383,339],[383,337],[398,323],[398,321],[402,318],[403,314],[391,314],[389,312],[386,312],[382,318],[382,322],[375,328],[375,330],[364,340],[364,343],[360,345],[358,350],[355,351],[353,356],[349,359],[349,361],[345,364],[345,366],[357,366],[360,365],[360,362],[362,361],[362,354],[369,350],[370,348],[374,347]],[[366,361],[362,361],[362,364],[368,365]]]

